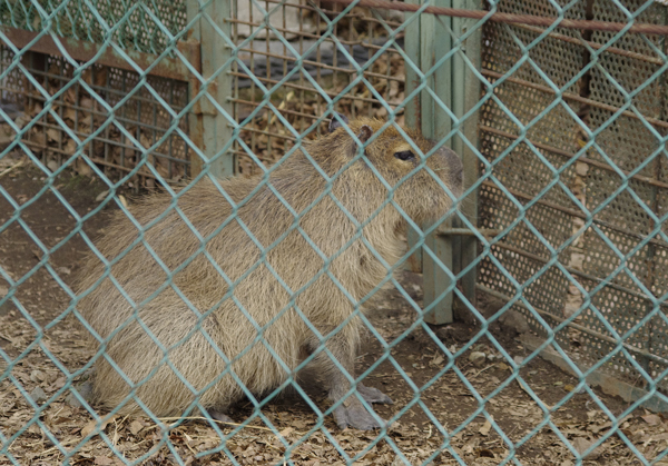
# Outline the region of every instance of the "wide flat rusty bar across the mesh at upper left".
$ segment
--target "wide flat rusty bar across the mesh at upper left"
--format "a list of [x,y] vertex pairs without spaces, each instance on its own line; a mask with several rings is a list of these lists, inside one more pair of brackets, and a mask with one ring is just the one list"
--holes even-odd
[[[24,49],[30,42],[37,38],[40,32],[27,31],[24,29],[11,28],[9,26],[0,26],[2,33],[10,40],[10,42],[19,48]],[[46,53],[50,56],[62,57],[60,48],[56,43],[58,40],[66,52],[78,61],[90,61],[97,53],[102,53],[96,59],[96,63],[105,65],[107,67],[120,68],[122,70],[136,71],[136,68],[128,63],[124,58],[111,48],[100,43],[87,42],[84,40],[56,37],[51,34],[42,36],[36,43],[30,47],[30,51]],[[198,51],[198,47],[193,47],[189,43],[179,43],[179,50],[189,57],[191,53]],[[149,66],[154,65],[158,59],[153,53],[139,52],[136,50],[124,50],[137,63],[143,70],[146,70]],[[199,71],[199,69],[197,69]],[[156,63],[149,75],[159,76],[161,78],[176,79],[178,81],[188,81],[190,79],[190,71],[178,58],[165,57]]]

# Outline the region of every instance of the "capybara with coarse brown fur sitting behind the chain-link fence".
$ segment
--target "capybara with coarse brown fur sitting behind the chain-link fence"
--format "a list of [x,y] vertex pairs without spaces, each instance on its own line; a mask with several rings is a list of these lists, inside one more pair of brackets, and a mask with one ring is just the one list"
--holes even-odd
[[[363,141],[383,126],[383,121],[371,119],[346,123]],[[136,384],[135,396],[155,415],[183,415],[196,394],[200,395],[203,407],[224,413],[244,395],[236,379],[253,394],[266,393],[294,376],[297,365],[316,350],[321,353],[314,364],[330,383],[331,398],[337,400],[350,389],[337,365],[322,351],[321,339],[299,311],[289,307],[291,298],[324,336],[353,314],[354,303],[387,275],[369,246],[389,265],[395,264],[405,248],[401,240],[405,220],[392,204],[364,226],[364,239],[356,237],[358,227],[348,216],[363,222],[389,197],[370,165],[390,186],[395,186],[421,163],[421,157],[399,158],[397,153],[412,149],[390,127],[374,135],[364,157],[342,170],[358,148],[340,123],[331,128],[331,133],[304,146],[322,171],[328,177],[336,175],[331,195],[316,201],[327,182],[302,151],[284,160],[268,178],[268,185],[302,216],[298,221],[272,188],[265,185],[256,190],[263,176],[216,182],[205,179],[175,199],[169,194],[158,194],[132,207],[134,217],[146,228],[144,242],[131,247],[140,234],[122,212],[115,216],[97,242],[108,260],[117,260],[110,267],[110,277],[110,277],[100,281],[105,266],[90,255],[78,282],[82,296],[78,310],[97,333],[94,345],[106,345],[108,357]],[[432,142],[405,131],[423,153],[432,149]],[[452,151],[440,149],[426,165],[455,196],[461,194],[461,161]],[[216,185],[238,204],[236,210]],[[441,217],[452,207],[450,196],[425,169],[397,186],[393,199],[419,224]],[[166,210],[166,217],[154,222]],[[295,224],[301,230],[294,228]],[[190,226],[207,239],[204,247]],[[171,281],[148,248],[174,271]],[[326,271],[310,284],[324,268],[323,256],[333,259]],[[226,297],[228,282],[236,285],[232,296]],[[326,343],[337,363],[353,377],[360,333],[361,320],[355,317]],[[226,371],[228,365],[220,354],[233,360],[229,368],[234,377]],[[370,403],[391,403],[373,388],[358,385],[358,391]],[[100,357],[96,363],[94,399],[109,408],[122,405],[120,414],[139,413],[137,403],[126,399],[129,393],[130,385]],[[361,408],[356,397],[350,399],[354,406],[346,400],[334,413],[341,427],[380,425]]]

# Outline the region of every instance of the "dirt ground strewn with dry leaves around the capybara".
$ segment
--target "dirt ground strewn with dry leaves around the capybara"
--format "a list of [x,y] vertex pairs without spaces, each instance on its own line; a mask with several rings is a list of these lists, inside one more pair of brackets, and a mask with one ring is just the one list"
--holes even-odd
[[[0,173],[16,161],[1,160]],[[53,188],[79,215],[95,211],[108,189],[99,181],[71,173],[61,176]],[[148,418],[115,417],[102,427],[105,435],[89,437],[96,430],[94,417],[86,408],[72,406],[71,396],[66,400],[69,390],[63,390],[69,381],[80,380],[68,380],[62,371],[84,367],[92,356],[81,340],[73,317],[65,314],[70,296],[63,285],[72,282],[87,246],[75,231],[71,211],[52,190],[47,189],[36,197],[43,190],[43,173],[35,168],[17,167],[0,175],[0,192],[24,207],[20,218],[0,231],[0,303],[9,293],[8,281],[2,277],[20,280],[13,295],[19,305],[6,300],[0,306],[0,452],[4,448],[8,452],[0,455],[0,465],[12,460],[21,465],[55,465],[67,456],[69,464],[76,465],[121,465],[141,458],[140,463],[146,465],[292,463],[315,466],[345,464],[348,458],[355,458],[358,465],[514,462],[568,466],[577,464],[572,452],[583,452],[600,438],[606,438],[605,443],[583,464],[640,465],[630,445],[648,460],[668,448],[666,417],[637,409],[620,419],[619,430],[610,435],[615,424],[605,412],[619,416],[628,405],[596,389],[596,399],[586,391],[572,393],[577,379],[540,358],[525,363],[521,369],[522,383],[512,380],[479,412],[479,399],[512,376],[509,361],[490,338],[499,341],[515,361],[522,361],[530,351],[511,328],[495,325],[491,335],[477,338],[480,329],[462,323],[432,328],[451,351],[475,339],[469,350],[455,359],[456,370],[451,368],[436,377],[446,366],[448,356],[428,331],[418,327],[391,350],[395,365],[384,361],[365,380],[394,400],[393,405],[375,406],[382,417],[392,418],[411,406],[393,423],[386,437],[379,432],[338,430],[331,416],[324,419],[323,427],[312,432],[317,417],[294,390],[272,400],[262,410],[281,436],[259,417],[238,429],[222,426],[220,432],[228,436],[225,442],[205,420],[174,423],[169,419],[165,420],[166,428],[161,428]],[[0,228],[14,216],[14,208],[4,196],[0,196]],[[132,202],[128,194],[124,197]],[[84,231],[91,237],[102,232],[115,208],[111,202],[97,211],[85,222]],[[28,230],[39,244],[30,238]],[[56,251],[45,256],[45,248],[56,246]],[[27,275],[29,278],[22,278]],[[402,272],[400,281],[420,303],[421,277]],[[382,337],[393,341],[414,323],[415,311],[399,291],[391,290],[374,300],[369,317]],[[475,360],[471,357],[474,351],[483,353],[484,357]],[[358,369],[367,368],[381,355],[380,343],[370,335]],[[12,361],[16,364],[7,370]],[[400,375],[396,366],[410,380]],[[465,377],[473,390],[461,377]],[[327,406],[317,380],[305,375],[302,383],[318,406]],[[540,401],[532,398],[531,391]],[[568,401],[548,417],[543,409],[551,409],[564,397],[569,397]],[[253,414],[249,406],[249,403],[239,404],[232,418],[243,422]],[[499,430],[491,426],[490,418]],[[532,433],[537,426],[540,428]],[[126,459],[116,456],[110,446]],[[287,449],[289,455],[286,455]],[[668,460],[664,462],[658,464],[668,465]]]

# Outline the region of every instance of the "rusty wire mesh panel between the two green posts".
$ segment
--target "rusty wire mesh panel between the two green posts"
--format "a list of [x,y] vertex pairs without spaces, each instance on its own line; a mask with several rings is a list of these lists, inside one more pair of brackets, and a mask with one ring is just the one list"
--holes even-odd
[[[395,51],[403,47],[403,29],[389,40],[390,33],[402,24],[403,14],[356,7],[332,22],[330,30],[327,22],[343,10],[337,3],[325,1],[320,8],[296,0],[261,4],[271,11],[269,24],[264,23],[259,7],[237,2],[233,37],[240,43],[238,57],[244,66],[237,65],[232,75],[236,78],[235,116],[244,122],[242,137],[263,162],[273,163],[293,147],[295,137],[284,121],[298,132],[311,131],[310,137],[320,132],[324,127],[311,127],[328,111],[332,99],[336,100],[336,111],[374,118],[385,118],[389,108],[404,100],[404,60]],[[385,44],[389,47],[382,54],[371,60]],[[358,67],[369,61],[362,76],[375,92],[355,79]],[[317,89],[305,73],[322,88]],[[272,103],[285,120],[273,116],[266,107],[255,111],[264,99],[259,82],[273,88]],[[396,121],[404,121],[402,108],[396,111]],[[235,153],[239,172],[259,172],[238,146]]]

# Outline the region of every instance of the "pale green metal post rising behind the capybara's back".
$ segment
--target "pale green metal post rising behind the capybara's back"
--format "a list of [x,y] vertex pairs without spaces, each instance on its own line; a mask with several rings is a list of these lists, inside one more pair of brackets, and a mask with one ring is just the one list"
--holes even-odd
[[[218,31],[212,24],[216,24],[227,37],[232,37],[232,1],[235,0],[187,0],[187,16],[190,21],[200,14],[199,20],[193,27],[190,40],[199,42],[199,59],[202,76],[208,80],[232,57],[232,50]],[[228,97],[232,92],[230,70],[224,70],[212,79],[207,85],[207,95],[210,96],[228,115],[232,115],[232,102]],[[191,80],[189,86],[190,98],[200,90],[198,80]],[[189,119],[190,138],[199,147],[202,152],[210,160],[208,171],[218,178],[234,175],[235,163],[232,149],[220,153],[226,142],[232,139],[232,128],[227,118],[222,115],[210,102],[209,98],[203,96],[193,106]],[[218,157],[216,157],[218,156]],[[191,155],[190,167],[193,175],[202,171],[204,160]]]

